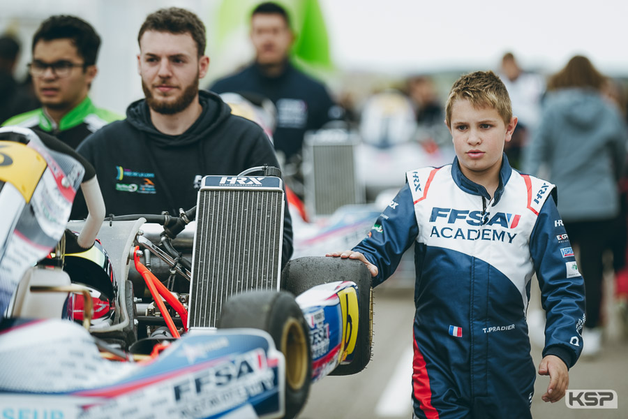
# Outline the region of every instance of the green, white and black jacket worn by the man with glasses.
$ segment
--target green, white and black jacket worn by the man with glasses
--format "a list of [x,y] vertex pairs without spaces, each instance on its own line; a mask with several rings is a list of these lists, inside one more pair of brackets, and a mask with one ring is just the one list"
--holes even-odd
[[16,115],[6,120],[3,125],[37,129],[54,135],[76,149],[87,135],[118,119],[122,119],[122,116],[105,109],[96,108],[91,99],[86,97],[73,110],[63,115],[59,124],[48,117],[43,108],[39,108]]

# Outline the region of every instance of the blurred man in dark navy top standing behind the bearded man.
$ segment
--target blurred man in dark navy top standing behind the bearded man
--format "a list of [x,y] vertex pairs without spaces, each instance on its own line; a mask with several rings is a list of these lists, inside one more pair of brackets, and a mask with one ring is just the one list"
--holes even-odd
[[[218,94],[250,92],[269,98],[277,108],[273,133],[275,149],[278,154],[283,154],[280,161],[294,163],[298,171],[306,131],[317,130],[330,120],[340,119],[342,110],[324,84],[299,71],[290,62],[294,32],[285,8],[272,2],[256,6],[251,13],[250,36],[255,49],[253,64],[214,82],[209,90]],[[290,186],[302,196],[299,185],[292,182]]]

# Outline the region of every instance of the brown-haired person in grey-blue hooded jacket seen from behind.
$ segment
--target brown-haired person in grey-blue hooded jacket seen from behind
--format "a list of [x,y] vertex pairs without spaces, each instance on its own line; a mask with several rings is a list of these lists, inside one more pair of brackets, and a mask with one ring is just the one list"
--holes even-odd
[[[581,55],[551,76],[523,166],[532,175],[545,166],[549,182],[558,187],[558,211],[569,241],[577,247],[585,280],[585,356],[595,356],[601,348],[602,256],[620,213],[618,180],[628,140],[620,112],[602,95],[605,82]],[[568,244],[561,251],[564,257],[573,253]]]

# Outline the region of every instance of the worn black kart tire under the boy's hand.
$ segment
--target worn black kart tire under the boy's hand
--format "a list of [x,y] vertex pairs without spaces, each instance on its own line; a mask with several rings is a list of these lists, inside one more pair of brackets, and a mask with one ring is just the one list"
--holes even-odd
[[[373,288],[371,273],[359,260],[307,256],[288,261],[281,273],[282,285],[294,295],[313,286],[334,281],[357,284],[359,325],[354,358],[349,364],[338,365],[329,375],[351,375],[361,372],[371,360],[373,346]],[[366,302],[366,303],[365,303]]]

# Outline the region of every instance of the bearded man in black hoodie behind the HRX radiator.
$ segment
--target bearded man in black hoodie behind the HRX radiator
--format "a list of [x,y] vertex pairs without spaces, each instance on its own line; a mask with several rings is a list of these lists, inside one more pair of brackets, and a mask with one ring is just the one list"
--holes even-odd
[[[179,214],[196,205],[204,175],[279,167],[260,126],[199,91],[209,67],[205,39],[204,24],[181,8],[160,9],[142,24],[137,70],[145,98],[77,149],[96,168],[107,214]],[[284,214],[282,265],[292,255],[287,208]],[[73,216],[84,213],[77,208]]]

